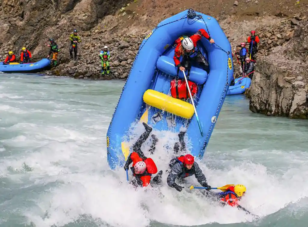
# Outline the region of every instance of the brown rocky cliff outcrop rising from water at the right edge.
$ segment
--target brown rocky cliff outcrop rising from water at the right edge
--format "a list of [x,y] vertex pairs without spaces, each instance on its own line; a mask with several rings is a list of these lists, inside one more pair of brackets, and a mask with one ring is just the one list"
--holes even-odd
[[296,15],[264,30],[250,110],[308,119],[308,20]]

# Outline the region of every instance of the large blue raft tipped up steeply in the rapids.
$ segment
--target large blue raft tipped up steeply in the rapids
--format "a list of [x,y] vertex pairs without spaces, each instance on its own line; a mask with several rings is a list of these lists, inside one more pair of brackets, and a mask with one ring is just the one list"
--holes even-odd
[[[183,35],[193,35],[201,28],[215,40],[215,44],[211,44],[202,37],[197,44],[209,61],[209,75],[193,65],[189,77],[199,88],[194,103],[203,136],[192,104],[168,96],[170,81],[177,75],[174,41]],[[107,131],[107,160],[111,169],[124,164],[127,152],[122,148],[129,129],[139,121],[159,131],[179,132],[182,126],[186,127],[188,140],[193,144],[192,155],[202,158],[233,78],[231,53],[230,43],[213,17],[185,10],[160,22],[141,43],[112,115]],[[184,77],[181,72],[178,76]],[[170,116],[175,117],[171,128]]]

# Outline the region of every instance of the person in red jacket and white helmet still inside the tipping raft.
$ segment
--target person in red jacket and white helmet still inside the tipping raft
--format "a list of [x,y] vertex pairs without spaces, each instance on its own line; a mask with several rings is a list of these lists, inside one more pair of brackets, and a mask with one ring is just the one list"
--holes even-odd
[[[196,60],[201,67],[209,73],[209,63],[199,51],[197,47],[197,42],[203,37],[209,40],[210,43],[214,43],[214,40],[209,36],[209,34],[204,29],[199,29],[195,34],[190,37],[180,37],[175,41],[176,48],[174,51],[174,63],[178,70],[185,71],[191,68],[191,60]],[[183,61],[180,62],[180,56],[183,57]]]

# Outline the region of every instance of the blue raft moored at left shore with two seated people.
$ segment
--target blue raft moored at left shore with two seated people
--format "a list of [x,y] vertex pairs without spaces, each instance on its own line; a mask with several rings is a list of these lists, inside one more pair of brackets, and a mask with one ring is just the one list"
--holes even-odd
[[0,72],[6,73],[34,73],[40,72],[44,69],[50,67],[50,60],[47,58],[43,58],[42,60],[34,63],[24,63],[24,64],[12,64],[6,65],[3,62],[0,62]]

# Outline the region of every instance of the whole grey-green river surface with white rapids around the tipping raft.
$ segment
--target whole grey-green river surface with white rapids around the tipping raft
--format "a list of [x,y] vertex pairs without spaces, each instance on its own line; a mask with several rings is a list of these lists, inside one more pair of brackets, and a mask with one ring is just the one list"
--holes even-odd
[[[123,85],[0,74],[1,227],[307,226],[307,120],[254,114],[243,95],[226,98],[198,162],[212,187],[247,187],[241,205],[254,219],[198,189],[178,193],[164,181],[135,190],[122,168],[110,170],[106,132]],[[160,168],[166,137],[153,156]]]

